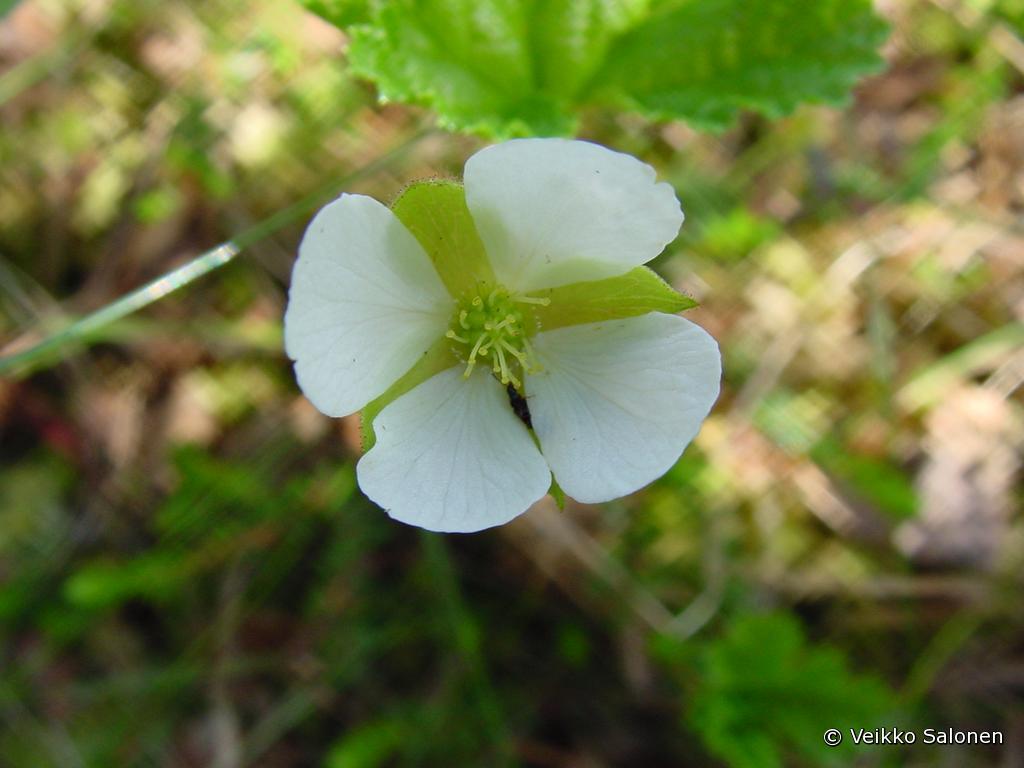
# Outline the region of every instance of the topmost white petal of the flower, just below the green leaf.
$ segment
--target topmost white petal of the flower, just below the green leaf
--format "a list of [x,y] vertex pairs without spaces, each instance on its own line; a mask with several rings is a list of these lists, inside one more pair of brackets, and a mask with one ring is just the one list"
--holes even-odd
[[622,274],[679,232],[673,188],[587,141],[516,139],[466,163],[466,203],[500,282],[517,291]]

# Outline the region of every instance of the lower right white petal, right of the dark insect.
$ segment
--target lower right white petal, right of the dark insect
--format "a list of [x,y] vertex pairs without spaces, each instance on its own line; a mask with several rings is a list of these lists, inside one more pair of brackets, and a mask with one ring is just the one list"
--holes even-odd
[[525,382],[534,430],[558,484],[581,502],[662,476],[718,398],[718,345],[673,314],[561,328],[535,346],[545,371]]

